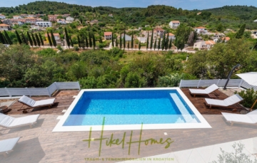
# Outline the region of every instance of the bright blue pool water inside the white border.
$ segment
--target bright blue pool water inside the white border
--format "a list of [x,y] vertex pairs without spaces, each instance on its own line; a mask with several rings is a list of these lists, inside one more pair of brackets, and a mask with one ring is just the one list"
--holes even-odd
[[78,125],[136,125],[199,122],[177,90],[84,92],[64,122]]

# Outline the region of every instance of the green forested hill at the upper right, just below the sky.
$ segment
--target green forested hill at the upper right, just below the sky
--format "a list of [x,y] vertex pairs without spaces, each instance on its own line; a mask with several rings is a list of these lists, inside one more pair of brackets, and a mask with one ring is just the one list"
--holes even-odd
[[257,8],[255,6],[223,6],[215,9],[207,9],[214,16],[234,20],[253,21],[257,19]]

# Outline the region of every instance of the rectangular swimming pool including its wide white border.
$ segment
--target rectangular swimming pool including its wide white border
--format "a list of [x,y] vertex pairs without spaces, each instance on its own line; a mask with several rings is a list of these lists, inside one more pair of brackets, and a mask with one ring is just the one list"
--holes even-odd
[[179,88],[81,90],[53,131],[211,127]]

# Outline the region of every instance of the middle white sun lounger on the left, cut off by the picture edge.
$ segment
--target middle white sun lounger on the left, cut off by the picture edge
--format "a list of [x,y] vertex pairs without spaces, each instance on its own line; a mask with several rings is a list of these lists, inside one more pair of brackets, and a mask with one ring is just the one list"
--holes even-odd
[[32,127],[34,123],[39,119],[39,115],[28,115],[25,117],[11,117],[0,113],[0,127],[12,128],[23,125],[29,125]]

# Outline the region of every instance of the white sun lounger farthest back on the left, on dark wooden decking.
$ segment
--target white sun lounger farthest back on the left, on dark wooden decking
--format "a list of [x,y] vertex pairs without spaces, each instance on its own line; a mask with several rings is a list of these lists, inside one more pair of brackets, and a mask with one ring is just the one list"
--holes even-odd
[[44,106],[48,106],[51,107],[51,105],[54,105],[54,100],[56,100],[55,98],[51,98],[51,99],[46,99],[46,100],[38,100],[35,101],[31,98],[26,97],[26,95],[23,95],[20,99],[19,102],[21,102],[23,105],[27,105],[29,106],[29,108],[25,108],[25,109],[19,109],[19,110],[29,110],[31,108],[35,108],[35,107],[44,107]]

